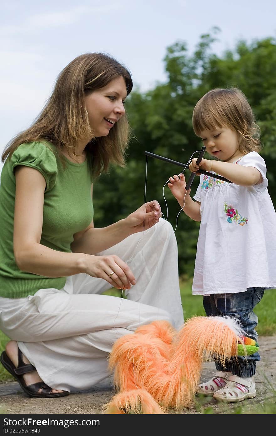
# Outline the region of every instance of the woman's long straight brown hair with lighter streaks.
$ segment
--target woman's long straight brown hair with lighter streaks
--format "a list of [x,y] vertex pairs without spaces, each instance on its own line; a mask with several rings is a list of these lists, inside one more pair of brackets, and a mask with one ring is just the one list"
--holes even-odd
[[70,62],[58,75],[54,91],[41,113],[28,129],[19,133],[2,154],[2,162],[23,143],[46,140],[61,150],[76,155],[78,140],[91,138],[86,150],[93,154],[93,176],[106,171],[109,163],[124,166],[130,128],[126,114],[112,127],[107,136],[95,137],[85,110],[85,96],[103,88],[122,76],[126,92],[132,90],[130,72],[118,61],[103,53],[86,53]]

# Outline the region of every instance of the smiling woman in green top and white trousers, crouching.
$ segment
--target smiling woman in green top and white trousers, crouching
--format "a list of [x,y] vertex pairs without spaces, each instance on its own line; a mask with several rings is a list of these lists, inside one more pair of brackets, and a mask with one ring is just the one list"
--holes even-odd
[[[78,56],[2,156],[0,328],[11,341],[0,360],[33,397],[108,377],[112,344],[142,324],[183,324],[177,244],[158,202],[93,225],[93,181],[124,164],[132,86],[112,57]],[[113,286],[127,299],[102,295]]]

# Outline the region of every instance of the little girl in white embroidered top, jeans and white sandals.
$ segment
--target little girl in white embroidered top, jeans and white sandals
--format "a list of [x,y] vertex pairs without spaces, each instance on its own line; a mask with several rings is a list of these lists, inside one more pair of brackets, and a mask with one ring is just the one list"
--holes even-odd
[[[203,295],[207,316],[237,318],[246,336],[257,340],[253,312],[265,289],[276,287],[276,214],[267,191],[266,164],[258,151],[258,126],[245,95],[236,88],[212,89],[197,103],[193,128],[206,151],[216,159],[192,159],[189,169],[200,175],[190,197],[183,174],[168,187],[186,215],[201,221],[195,260],[193,294]],[[198,173],[220,174],[229,182]],[[217,400],[254,398],[258,353],[239,356],[217,372],[198,392]]]

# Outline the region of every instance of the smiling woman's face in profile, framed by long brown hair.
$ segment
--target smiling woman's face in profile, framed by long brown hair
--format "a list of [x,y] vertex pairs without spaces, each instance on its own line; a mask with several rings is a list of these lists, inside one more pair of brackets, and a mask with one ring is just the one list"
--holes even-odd
[[114,124],[124,115],[126,82],[122,76],[113,79],[103,88],[85,97],[85,107],[95,136],[106,136]]

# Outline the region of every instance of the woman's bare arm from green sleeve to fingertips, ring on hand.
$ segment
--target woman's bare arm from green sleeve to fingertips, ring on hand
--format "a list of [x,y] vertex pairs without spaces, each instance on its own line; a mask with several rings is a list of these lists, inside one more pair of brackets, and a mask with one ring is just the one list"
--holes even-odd
[[[42,174],[31,167],[18,166],[15,172],[14,257],[19,269],[46,277],[64,277],[85,272],[105,279],[112,286],[129,289],[135,277],[116,255],[94,256],[64,253],[40,243],[44,190]],[[112,279],[110,272],[114,271]]]

